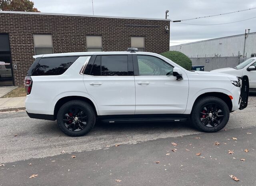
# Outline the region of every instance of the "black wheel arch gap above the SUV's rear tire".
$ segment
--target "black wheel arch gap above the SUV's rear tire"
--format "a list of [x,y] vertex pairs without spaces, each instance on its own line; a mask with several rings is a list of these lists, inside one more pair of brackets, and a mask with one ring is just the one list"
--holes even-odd
[[96,106],[94,105],[94,103],[88,99],[87,97],[82,97],[82,96],[66,96],[66,97],[62,97],[61,99],[59,99],[57,101],[57,103],[55,104],[55,107],[54,107],[54,119],[56,119],[57,117],[57,113],[60,109],[60,107],[68,102],[68,101],[72,101],[72,100],[81,100],[81,101],[85,101],[86,103],[89,103],[92,108],[94,108],[94,112],[96,113],[96,116],[98,115],[98,112],[96,110]]

